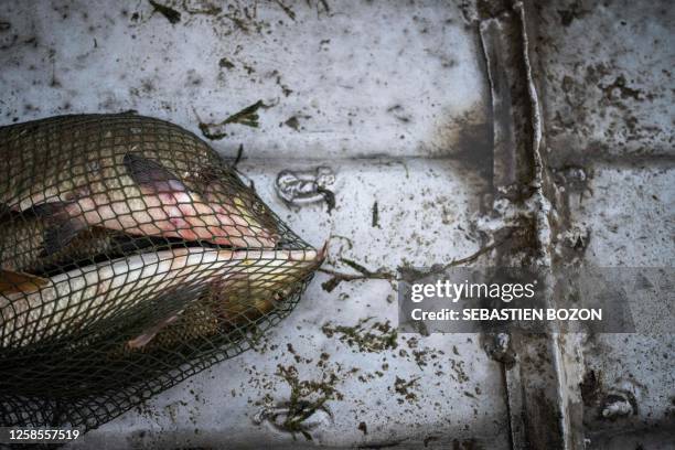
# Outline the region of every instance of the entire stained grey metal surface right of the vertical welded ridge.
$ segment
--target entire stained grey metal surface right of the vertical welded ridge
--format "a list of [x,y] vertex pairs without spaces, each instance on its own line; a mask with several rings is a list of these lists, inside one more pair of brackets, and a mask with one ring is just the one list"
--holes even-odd
[[[555,237],[558,261],[672,267],[671,4],[564,1],[535,11],[547,159],[567,216]],[[673,317],[672,303],[666,296],[634,306],[649,335],[600,334],[576,344],[569,366],[579,369],[578,426],[590,448],[673,442],[675,340],[649,325],[650,315]]]

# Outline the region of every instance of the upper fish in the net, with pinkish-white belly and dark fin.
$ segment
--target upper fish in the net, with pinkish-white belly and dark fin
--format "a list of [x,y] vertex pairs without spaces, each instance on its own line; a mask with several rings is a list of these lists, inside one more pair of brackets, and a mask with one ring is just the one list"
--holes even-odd
[[0,205],[45,218],[47,255],[92,227],[236,248],[280,238],[274,213],[204,141],[128,114],[0,127]]

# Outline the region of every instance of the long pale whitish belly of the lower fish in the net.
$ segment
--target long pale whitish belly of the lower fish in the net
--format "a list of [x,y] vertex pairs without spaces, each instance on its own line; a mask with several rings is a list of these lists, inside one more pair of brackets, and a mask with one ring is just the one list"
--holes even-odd
[[54,335],[64,339],[69,334],[64,323],[77,331],[94,329],[111,314],[132,310],[171,288],[207,286],[214,279],[221,289],[239,285],[234,292],[240,292],[244,283],[246,293],[259,299],[249,286],[260,285],[260,278],[265,283],[258,289],[270,290],[266,285],[271,283],[279,290],[300,281],[321,259],[314,250],[178,248],[78,268],[50,278],[33,292],[0,292],[0,345],[17,349]]

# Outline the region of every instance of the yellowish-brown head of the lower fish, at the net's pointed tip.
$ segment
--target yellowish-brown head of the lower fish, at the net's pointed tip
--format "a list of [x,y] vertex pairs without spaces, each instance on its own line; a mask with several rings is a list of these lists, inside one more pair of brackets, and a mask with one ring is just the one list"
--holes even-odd
[[[244,330],[246,325],[259,322],[268,314],[276,313],[278,317],[288,313],[311,272],[325,257],[325,246],[321,250],[214,251],[182,248],[171,251],[172,258],[194,257],[192,262],[185,260],[180,266],[207,268],[212,264],[226,265],[213,278],[210,277],[203,290],[200,288],[197,301],[184,304],[182,312],[168,315],[143,330],[140,335],[135,335],[127,343],[131,350],[151,351],[185,340],[210,339],[224,330]],[[206,259],[210,262],[205,262]],[[181,285],[178,289],[184,288]],[[194,290],[189,291],[189,296],[193,293]],[[174,293],[169,296],[174,297]],[[235,335],[229,338],[235,339]],[[152,343],[146,345],[150,341]]]

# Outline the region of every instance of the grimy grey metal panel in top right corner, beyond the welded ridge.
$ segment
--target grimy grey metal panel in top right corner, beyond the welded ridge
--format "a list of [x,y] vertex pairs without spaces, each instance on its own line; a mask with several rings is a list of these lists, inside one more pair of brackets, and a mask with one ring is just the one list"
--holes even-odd
[[672,4],[537,3],[551,160],[672,157]]

